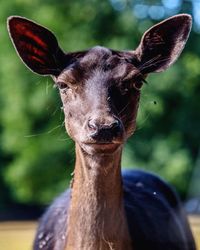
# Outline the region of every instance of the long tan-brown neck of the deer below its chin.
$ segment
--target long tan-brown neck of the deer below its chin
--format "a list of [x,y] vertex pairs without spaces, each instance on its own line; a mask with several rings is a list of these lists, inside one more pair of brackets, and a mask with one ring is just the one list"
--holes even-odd
[[131,249],[123,207],[119,148],[112,155],[88,155],[76,145],[66,250]]

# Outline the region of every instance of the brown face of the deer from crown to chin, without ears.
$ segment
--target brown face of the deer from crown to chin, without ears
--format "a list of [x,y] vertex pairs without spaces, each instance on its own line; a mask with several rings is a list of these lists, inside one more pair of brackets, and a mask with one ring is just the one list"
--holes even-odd
[[115,149],[134,131],[143,76],[132,57],[94,47],[55,78],[68,134],[87,151]]

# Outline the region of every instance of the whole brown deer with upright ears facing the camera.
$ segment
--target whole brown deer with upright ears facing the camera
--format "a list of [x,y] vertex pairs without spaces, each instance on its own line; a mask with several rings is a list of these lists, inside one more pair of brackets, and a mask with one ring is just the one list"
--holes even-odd
[[177,60],[191,25],[190,15],[178,14],[148,29],[135,50],[63,52],[47,28],[8,18],[18,56],[57,86],[75,142],[73,183],[40,219],[34,250],[196,249],[174,188],[156,174],[121,170],[145,79]]

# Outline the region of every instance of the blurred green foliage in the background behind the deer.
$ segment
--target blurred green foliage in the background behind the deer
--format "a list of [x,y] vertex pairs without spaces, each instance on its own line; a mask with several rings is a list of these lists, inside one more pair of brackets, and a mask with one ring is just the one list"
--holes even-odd
[[[172,2],[172,1],[171,1]],[[175,1],[177,2],[177,1]],[[139,3],[139,6],[138,6]],[[166,7],[163,16],[141,14],[166,1],[10,0],[0,9],[0,204],[46,204],[69,184],[74,146],[50,78],[30,72],[17,57],[6,18],[21,15],[51,29],[65,51],[97,44],[134,49],[159,18],[192,13],[192,2]],[[149,4],[149,5],[148,5]],[[147,6],[147,7],[145,7]],[[146,9],[145,9],[146,8]],[[163,7],[164,8],[164,7]],[[168,12],[167,12],[168,11]],[[139,14],[140,16],[139,16]],[[143,15],[143,16],[142,16]],[[197,27],[198,28],[198,27]],[[148,77],[138,125],[123,156],[125,167],[155,171],[182,197],[200,194],[200,35],[191,32],[171,69]],[[194,178],[193,178],[194,177]]]

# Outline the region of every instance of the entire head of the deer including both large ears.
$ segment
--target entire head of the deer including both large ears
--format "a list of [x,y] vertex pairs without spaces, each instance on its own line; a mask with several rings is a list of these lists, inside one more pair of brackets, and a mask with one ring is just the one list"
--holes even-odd
[[187,41],[191,17],[153,26],[135,51],[104,47],[63,53],[46,28],[21,17],[8,27],[24,63],[51,75],[60,90],[69,135],[89,154],[112,153],[134,132],[140,88],[148,73],[168,68]]

